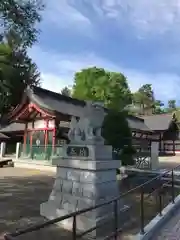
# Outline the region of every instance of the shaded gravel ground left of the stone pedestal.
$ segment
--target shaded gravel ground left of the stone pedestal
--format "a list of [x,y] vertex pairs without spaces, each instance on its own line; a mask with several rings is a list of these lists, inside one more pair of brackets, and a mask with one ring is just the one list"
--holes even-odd
[[[8,171],[12,171],[13,176],[7,174]],[[18,170],[15,168],[0,169],[0,239],[5,232],[14,232],[46,220],[40,216],[39,209],[40,204],[48,199],[52,190],[53,176],[31,175],[29,172],[28,176],[21,173],[18,177],[16,176],[18,174],[14,174],[16,171]],[[16,239],[40,238],[71,239],[71,235],[54,225]]]

